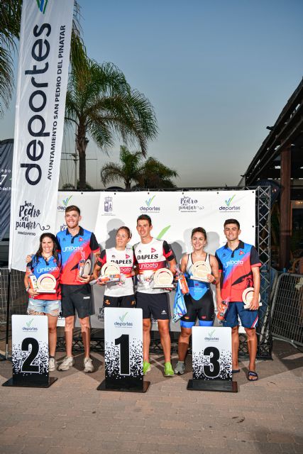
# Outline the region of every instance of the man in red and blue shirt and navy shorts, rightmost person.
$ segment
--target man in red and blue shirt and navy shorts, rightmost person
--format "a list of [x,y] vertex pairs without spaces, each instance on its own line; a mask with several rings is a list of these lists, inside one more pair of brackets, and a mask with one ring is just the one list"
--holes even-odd
[[[233,373],[240,372],[238,365],[238,316],[245,328],[248,341],[249,367],[248,381],[258,380],[255,372],[257,355],[257,336],[255,326],[258,323],[260,293],[260,259],[253,245],[243,243],[238,237],[241,234],[240,223],[236,219],[227,219],[224,223],[226,245],[216,250],[216,259],[221,272],[221,292],[217,294],[217,308],[222,301],[229,300],[228,310],[223,321],[224,326],[231,328]],[[244,309],[242,294],[248,287],[254,287],[250,309]]]

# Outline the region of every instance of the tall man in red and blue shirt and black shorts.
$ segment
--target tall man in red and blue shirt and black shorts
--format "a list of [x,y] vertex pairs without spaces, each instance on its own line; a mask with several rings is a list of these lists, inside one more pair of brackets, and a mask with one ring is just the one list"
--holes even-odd
[[57,243],[62,257],[60,275],[62,292],[62,315],[65,317],[66,357],[58,370],[68,370],[74,365],[72,356],[72,331],[75,324],[75,311],[81,325],[84,345],[84,372],[94,372],[92,358],[89,356],[90,324],[92,315],[92,289],[89,281],[92,276],[79,277],[79,262],[85,262],[91,253],[99,256],[100,248],[94,233],[79,226],[80,210],[77,206],[67,206],[65,223],[67,228],[57,233]]

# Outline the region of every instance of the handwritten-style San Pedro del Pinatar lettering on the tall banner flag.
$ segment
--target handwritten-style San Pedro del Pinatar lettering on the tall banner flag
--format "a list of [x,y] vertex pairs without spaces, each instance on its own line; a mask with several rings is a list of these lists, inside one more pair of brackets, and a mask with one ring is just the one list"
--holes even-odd
[[18,218],[15,223],[15,230],[18,231],[18,234],[35,236],[35,229],[37,228],[40,228],[40,231],[50,230],[48,224],[43,226],[42,223],[38,222],[40,214],[41,211],[38,207],[25,200],[19,206]]

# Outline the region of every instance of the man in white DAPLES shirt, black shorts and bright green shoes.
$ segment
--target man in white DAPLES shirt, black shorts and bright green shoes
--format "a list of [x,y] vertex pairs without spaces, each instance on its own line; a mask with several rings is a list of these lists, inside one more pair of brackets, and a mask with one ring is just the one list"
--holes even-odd
[[143,310],[143,374],[150,371],[150,316],[158,320],[160,341],[163,348],[165,377],[172,377],[174,371],[170,362],[170,309],[167,289],[155,288],[153,275],[156,270],[167,267],[175,273],[177,262],[171,246],[164,240],[150,235],[153,226],[150,216],[142,214],[137,219],[137,231],[141,242],[134,245],[138,286],[136,307]]

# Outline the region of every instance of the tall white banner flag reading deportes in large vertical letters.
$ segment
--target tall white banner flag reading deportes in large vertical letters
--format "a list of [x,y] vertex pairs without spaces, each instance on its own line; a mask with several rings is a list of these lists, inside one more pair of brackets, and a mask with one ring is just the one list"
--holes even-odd
[[16,270],[41,233],[55,233],[73,6],[23,0],[9,248]]

